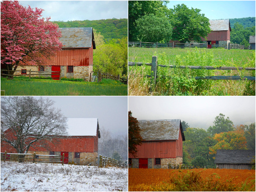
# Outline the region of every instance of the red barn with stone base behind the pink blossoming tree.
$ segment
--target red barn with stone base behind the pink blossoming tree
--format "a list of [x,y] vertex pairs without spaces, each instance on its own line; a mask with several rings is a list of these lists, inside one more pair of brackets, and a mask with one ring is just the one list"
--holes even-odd
[[[59,28],[63,43],[62,50],[55,57],[45,59],[43,66],[22,64],[17,70],[23,74],[31,71],[61,71],[60,77],[90,80],[93,71],[93,49],[95,47],[92,28]],[[21,74],[16,72],[15,74]],[[59,75],[52,75],[58,79]]]

